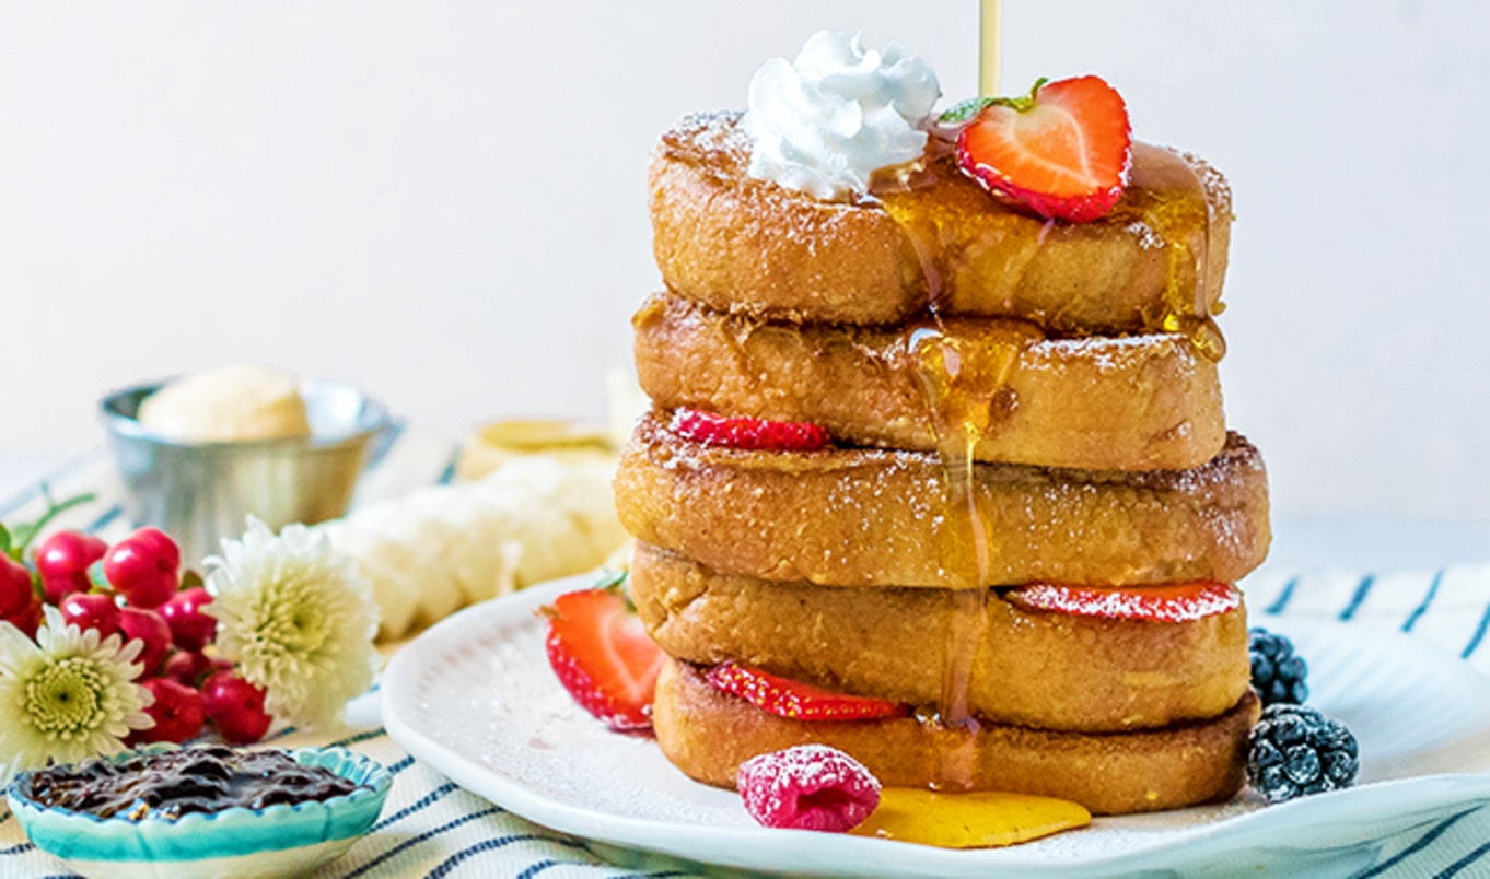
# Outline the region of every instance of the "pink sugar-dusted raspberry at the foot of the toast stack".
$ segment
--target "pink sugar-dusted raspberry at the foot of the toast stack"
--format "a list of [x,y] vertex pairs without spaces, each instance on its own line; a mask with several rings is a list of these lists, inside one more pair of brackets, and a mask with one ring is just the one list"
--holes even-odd
[[745,810],[766,827],[848,833],[879,806],[879,779],[827,745],[751,757],[735,784]]

